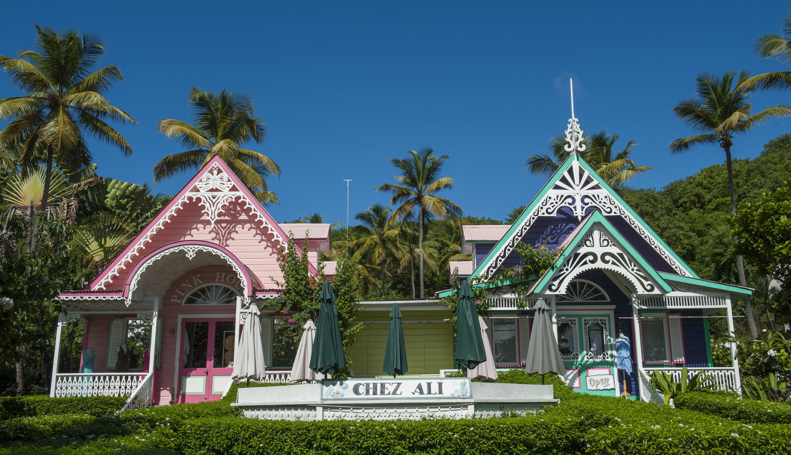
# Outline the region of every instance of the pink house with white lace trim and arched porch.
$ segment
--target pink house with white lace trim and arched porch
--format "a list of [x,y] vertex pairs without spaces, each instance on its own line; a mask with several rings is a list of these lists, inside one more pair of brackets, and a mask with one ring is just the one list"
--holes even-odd
[[290,234],[300,247],[307,237],[317,273],[330,226],[278,224],[212,158],[85,290],[60,294],[67,309],[55,359],[63,323],[79,319],[85,335],[81,373],[61,373],[56,361],[51,396],[129,394],[131,408],[217,400],[231,383],[240,309],[250,302],[261,309],[270,365],[267,301],[282,293],[277,251]]

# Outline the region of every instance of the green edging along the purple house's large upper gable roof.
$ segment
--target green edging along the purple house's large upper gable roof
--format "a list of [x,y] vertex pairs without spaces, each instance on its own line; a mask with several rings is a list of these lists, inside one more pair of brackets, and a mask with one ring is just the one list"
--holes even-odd
[[[505,242],[507,242],[507,241],[508,241],[508,240],[509,240],[511,237],[513,237],[513,234],[516,232],[516,230],[519,228],[519,226],[521,226],[522,222],[524,221],[524,218],[526,218],[527,216],[529,216],[529,214],[530,214],[530,212],[532,212],[532,210],[535,210],[536,206],[537,206],[537,205],[538,205],[538,204],[541,202],[541,199],[543,199],[543,196],[547,194],[547,191],[549,191],[549,190],[550,190],[550,188],[552,188],[552,186],[554,186],[554,183],[555,183],[557,180],[559,180],[559,179],[560,179],[560,176],[562,176],[564,173],[566,173],[566,170],[568,170],[568,169],[571,167],[571,165],[573,164],[573,161],[574,161],[574,159],[573,159],[573,158],[574,158],[574,155],[576,155],[576,152],[575,152],[575,153],[572,153],[572,154],[570,154],[570,155],[569,155],[569,157],[567,157],[567,158],[566,158],[566,161],[563,161],[563,164],[562,164],[562,165],[560,165],[560,167],[558,168],[558,170],[557,170],[557,171],[555,171],[555,173],[554,173],[554,174],[552,174],[552,176],[550,177],[550,179],[549,179],[549,180],[547,180],[547,183],[546,183],[546,184],[544,184],[543,188],[541,188],[541,191],[539,191],[539,193],[536,195],[536,197],[534,197],[534,198],[532,199],[532,201],[530,201],[530,204],[528,204],[528,207],[524,209],[524,211],[522,212],[522,214],[520,214],[519,218],[517,218],[517,220],[516,220],[516,221],[514,221],[514,222],[511,224],[511,227],[510,227],[510,229],[508,229],[508,232],[506,232],[506,233],[505,233],[505,234],[504,234],[504,235],[501,237],[500,241],[498,241],[498,242],[497,242],[497,244],[496,244],[496,245],[494,245],[494,248],[492,248],[492,249],[490,250],[490,252],[489,252],[488,254],[486,254],[486,257],[483,259],[483,261],[481,261],[481,264],[479,264],[479,265],[478,265],[478,267],[475,267],[475,270],[474,270],[474,271],[472,271],[472,275],[471,275],[471,276],[478,276],[478,275],[479,275],[479,273],[480,273],[481,271],[483,271],[483,269],[484,269],[484,268],[486,268],[488,264],[490,264],[491,260],[493,260],[493,259],[494,259],[494,256],[495,256],[495,255],[497,254],[497,252],[500,250],[501,246],[502,246],[502,245],[504,245],[504,244],[505,244]],[[675,251],[673,251],[673,249],[672,249],[672,248],[670,248],[670,247],[668,246],[668,244],[664,243],[664,240],[662,240],[662,238],[661,238],[661,237],[659,237],[659,236],[657,235],[657,233],[653,231],[653,229],[651,229],[651,226],[649,226],[649,225],[648,225],[648,223],[646,223],[646,222],[645,222],[645,220],[643,220],[643,219],[640,217],[640,215],[638,215],[638,214],[637,214],[637,213],[636,213],[634,210],[632,210],[632,207],[629,207],[629,205],[628,205],[626,202],[624,202],[624,200],[623,200],[623,199],[621,199],[621,196],[619,196],[619,195],[618,195],[618,193],[616,193],[615,191],[613,191],[613,189],[611,188],[611,186],[610,186],[610,185],[608,185],[608,184],[607,184],[607,182],[605,182],[603,179],[601,179],[601,178],[600,178],[600,176],[599,176],[599,174],[597,174],[597,173],[596,173],[596,171],[594,171],[594,170],[593,170],[593,169],[590,167],[590,165],[588,165],[588,163],[587,163],[587,162],[585,162],[585,160],[584,160],[584,159],[582,159],[582,158],[580,157],[580,159],[579,159],[578,161],[580,162],[580,165],[583,167],[583,169],[587,170],[587,171],[588,171],[588,173],[591,175],[591,177],[592,177],[592,178],[594,178],[594,179],[596,179],[596,181],[597,181],[597,182],[598,182],[600,185],[602,185],[602,188],[605,188],[605,189],[607,190],[607,192],[609,193],[609,195],[610,195],[610,196],[611,196],[613,199],[615,199],[615,201],[616,201],[616,202],[618,202],[619,204],[621,204],[621,206],[622,206],[622,207],[623,207],[623,208],[624,208],[624,209],[625,209],[627,212],[629,212],[629,214],[630,214],[630,215],[631,215],[631,216],[634,218],[634,220],[635,220],[636,222],[639,222],[639,223],[640,223],[640,225],[643,227],[643,229],[645,229],[645,230],[646,230],[646,231],[647,231],[647,232],[648,232],[648,233],[649,233],[649,234],[650,234],[650,235],[651,235],[651,236],[652,236],[652,237],[653,237],[653,238],[654,238],[654,239],[657,241],[657,243],[659,243],[659,245],[660,245],[662,248],[664,248],[664,249],[665,249],[665,250],[668,252],[668,254],[669,254],[670,256],[672,256],[672,258],[673,258],[673,259],[675,259],[675,260],[676,260],[676,262],[678,262],[678,263],[679,263],[679,264],[681,264],[681,265],[682,265],[682,266],[683,266],[685,269],[687,269],[687,271],[689,271],[689,272],[690,272],[690,273],[693,275],[693,277],[694,277],[694,278],[699,278],[699,277],[698,277],[698,274],[696,274],[696,273],[694,272],[694,270],[692,270],[692,267],[690,267],[690,266],[689,266],[689,265],[688,265],[686,262],[684,262],[684,261],[681,259],[681,257],[679,257],[679,255],[677,255],[677,254],[676,254],[676,252],[675,252]],[[616,229],[616,230],[617,230],[617,229]],[[653,267],[652,267],[652,268],[653,268]]]

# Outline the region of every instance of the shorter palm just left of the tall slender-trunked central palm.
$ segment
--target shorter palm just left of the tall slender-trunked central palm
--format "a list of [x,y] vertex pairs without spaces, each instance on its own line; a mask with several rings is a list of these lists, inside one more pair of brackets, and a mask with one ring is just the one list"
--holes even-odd
[[[354,215],[361,225],[354,226],[359,238],[352,246],[357,248],[352,260],[381,273],[381,294],[384,295],[384,275],[387,266],[397,254],[398,229],[392,229],[391,210],[374,204],[368,210]],[[367,264],[366,264],[367,263]]]

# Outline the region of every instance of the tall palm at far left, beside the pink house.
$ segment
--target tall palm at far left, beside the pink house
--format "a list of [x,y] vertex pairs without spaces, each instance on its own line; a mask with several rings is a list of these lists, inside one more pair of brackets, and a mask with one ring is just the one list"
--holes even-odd
[[[23,97],[0,99],[0,119],[13,119],[0,132],[0,150],[20,150],[21,164],[47,164],[41,203],[49,201],[52,163],[61,169],[80,169],[92,161],[85,134],[93,135],[132,156],[126,139],[104,122],[137,123],[102,94],[123,81],[118,66],[91,72],[104,42],[96,35],[67,31],[59,35],[36,25],[37,51],[21,51],[19,59],[0,55],[0,67]],[[42,207],[44,210],[44,207]]]

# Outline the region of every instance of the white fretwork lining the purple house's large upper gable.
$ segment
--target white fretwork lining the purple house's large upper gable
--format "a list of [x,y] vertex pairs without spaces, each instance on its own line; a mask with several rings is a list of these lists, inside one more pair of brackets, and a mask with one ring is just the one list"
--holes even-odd
[[522,238],[528,233],[528,230],[533,226],[536,220],[539,217],[554,216],[558,214],[558,210],[562,207],[567,207],[571,210],[577,219],[582,219],[591,207],[598,208],[605,216],[618,215],[623,218],[626,223],[662,257],[662,259],[670,264],[679,275],[691,276],[690,271],[687,271],[687,269],[643,227],[642,223],[638,222],[638,220],[630,214],[629,210],[626,210],[626,207],[623,207],[622,204],[612,197],[610,192],[600,183],[600,177],[585,170],[585,168],[580,165],[579,161],[573,161],[569,168],[566,169],[566,172],[552,184],[547,194],[543,196],[539,203],[536,204],[536,207],[534,207],[521,224],[517,226],[512,237],[507,239],[499,250],[495,251],[494,258],[489,264],[486,264],[481,275],[494,275],[505,259],[513,252],[513,249],[519,245]]

